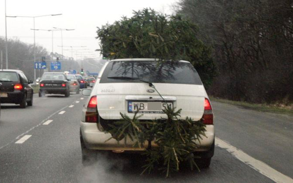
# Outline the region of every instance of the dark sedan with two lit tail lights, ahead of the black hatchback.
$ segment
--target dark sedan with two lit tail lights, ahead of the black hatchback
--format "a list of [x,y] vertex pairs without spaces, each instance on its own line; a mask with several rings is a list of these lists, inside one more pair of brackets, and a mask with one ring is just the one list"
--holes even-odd
[[64,73],[44,73],[40,79],[39,97],[45,94],[70,96],[69,82]]

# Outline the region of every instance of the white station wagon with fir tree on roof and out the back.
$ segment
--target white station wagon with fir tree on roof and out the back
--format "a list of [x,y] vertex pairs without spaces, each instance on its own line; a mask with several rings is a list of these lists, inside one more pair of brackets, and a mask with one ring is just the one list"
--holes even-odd
[[198,142],[199,148],[194,153],[201,157],[203,167],[208,167],[214,155],[214,117],[202,81],[188,61],[159,64],[155,59],[110,60],[101,69],[93,89],[83,89],[83,95],[89,96],[80,122],[83,163],[92,160],[97,150],[121,153],[147,148],[147,143],[146,147],[134,147],[130,139],[126,139],[126,144],[124,140],[120,143],[116,139],[108,140],[111,134],[104,132],[109,123],[121,119],[120,113],[132,118],[139,110],[143,113],[141,120],[167,118],[162,111],[167,104],[144,81],[152,83],[168,105],[182,109],[182,119],[203,118],[206,137]]

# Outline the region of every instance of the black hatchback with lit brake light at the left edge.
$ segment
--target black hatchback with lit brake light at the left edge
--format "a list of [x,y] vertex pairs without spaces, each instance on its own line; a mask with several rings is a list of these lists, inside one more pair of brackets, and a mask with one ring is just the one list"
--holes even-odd
[[0,70],[0,82],[2,83],[0,97],[1,103],[19,104],[25,108],[26,104],[32,106],[33,89],[25,74],[20,70],[2,69]]

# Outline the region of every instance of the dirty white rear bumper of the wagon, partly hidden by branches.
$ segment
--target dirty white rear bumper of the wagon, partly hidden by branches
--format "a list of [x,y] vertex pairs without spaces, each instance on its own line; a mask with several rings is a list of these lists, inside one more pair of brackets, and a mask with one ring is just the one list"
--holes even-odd
[[[125,150],[125,151],[143,151],[147,148],[148,143],[144,143],[144,147],[133,147],[134,143],[129,138],[126,138],[126,143],[123,140],[118,142],[116,139],[110,139],[112,137],[109,133],[99,131],[96,123],[84,123],[80,122],[81,134],[83,141],[88,149],[98,150]],[[110,140],[108,140],[110,139]],[[107,141],[108,140],[108,141]],[[106,142],[107,141],[107,142]],[[214,142],[214,125],[206,126],[206,137],[202,137],[199,148],[194,149],[194,152],[209,151]],[[152,142],[152,147],[157,145]]]

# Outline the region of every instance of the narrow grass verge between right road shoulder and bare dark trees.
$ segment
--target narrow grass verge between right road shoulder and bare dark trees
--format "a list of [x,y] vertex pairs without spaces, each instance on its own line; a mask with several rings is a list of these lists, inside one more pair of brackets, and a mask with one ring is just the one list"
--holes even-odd
[[212,101],[221,102],[226,104],[231,104],[235,106],[240,106],[246,109],[257,110],[261,112],[271,112],[278,114],[288,114],[293,116],[293,104],[291,106],[278,106],[278,105],[267,105],[267,104],[253,104],[248,102],[232,101],[217,97],[210,97]]

